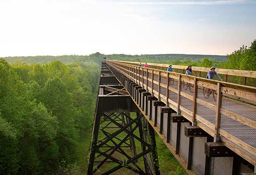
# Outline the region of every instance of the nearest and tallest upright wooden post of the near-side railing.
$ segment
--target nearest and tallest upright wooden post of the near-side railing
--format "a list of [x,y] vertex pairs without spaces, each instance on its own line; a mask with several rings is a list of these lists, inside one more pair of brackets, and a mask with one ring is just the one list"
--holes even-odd
[[221,126],[221,84],[217,85],[217,108],[216,108],[216,120],[215,120],[215,130],[214,130],[214,142],[220,141],[220,126]]

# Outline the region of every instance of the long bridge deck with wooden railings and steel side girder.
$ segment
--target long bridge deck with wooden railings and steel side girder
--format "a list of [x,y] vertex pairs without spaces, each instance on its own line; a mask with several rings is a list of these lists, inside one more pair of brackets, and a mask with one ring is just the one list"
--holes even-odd
[[[193,77],[167,72],[168,65],[163,64],[144,68],[134,62],[103,63],[107,67],[101,77],[112,78],[112,73],[119,81],[115,84],[123,88],[102,82],[99,91],[129,95],[133,102],[127,110],[139,109],[188,174],[256,173],[256,88],[245,85],[248,77],[256,79],[255,71],[243,71],[244,85],[239,85],[225,81],[241,76],[240,70],[216,69],[225,81],[215,81],[200,77],[206,68],[193,68],[199,73]],[[173,67],[176,72],[184,70]],[[214,95],[204,95],[207,88]],[[93,174],[90,168],[88,174]]]

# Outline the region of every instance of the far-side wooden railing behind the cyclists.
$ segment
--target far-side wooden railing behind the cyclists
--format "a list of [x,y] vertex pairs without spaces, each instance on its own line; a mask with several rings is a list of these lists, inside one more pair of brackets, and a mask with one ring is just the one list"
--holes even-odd
[[[126,63],[134,66],[138,66],[139,62],[125,62],[125,61],[117,61],[119,63]],[[168,64],[157,64],[157,63],[147,63],[150,68],[158,69],[158,70],[167,70]],[[187,66],[180,66],[180,65],[172,65],[172,68],[175,69],[175,72],[179,73],[186,73]],[[193,66],[193,70],[198,72],[198,77],[201,77],[202,73],[207,73],[209,71],[208,67],[197,67]],[[253,78],[256,84],[256,71],[250,71],[250,70],[230,70],[230,69],[219,69],[216,68],[216,72],[218,74],[224,75],[223,80],[225,82],[228,82],[228,76],[237,76],[243,78],[243,85],[246,85],[247,78]]]

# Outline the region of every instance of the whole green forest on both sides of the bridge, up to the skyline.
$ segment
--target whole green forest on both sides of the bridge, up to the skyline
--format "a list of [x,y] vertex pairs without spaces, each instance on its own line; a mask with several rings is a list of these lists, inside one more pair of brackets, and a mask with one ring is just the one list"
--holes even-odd
[[[88,158],[84,152],[90,144],[103,57],[255,71],[256,40],[227,56],[96,52],[0,58],[0,174],[85,174]],[[173,158],[160,142],[160,165],[167,168],[166,162]],[[161,157],[161,153],[169,157]]]

